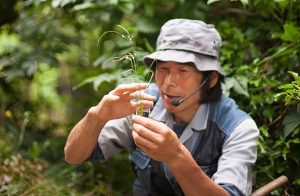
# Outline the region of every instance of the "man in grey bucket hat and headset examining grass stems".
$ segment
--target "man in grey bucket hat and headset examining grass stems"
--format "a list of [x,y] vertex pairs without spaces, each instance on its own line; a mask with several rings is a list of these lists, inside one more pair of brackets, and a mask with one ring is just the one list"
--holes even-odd
[[[213,25],[165,23],[145,57],[156,85],[120,85],[104,96],[71,131],[66,161],[103,161],[128,149],[134,195],[249,195],[259,131],[221,93],[220,46]],[[140,104],[153,106],[149,117],[132,115]]]

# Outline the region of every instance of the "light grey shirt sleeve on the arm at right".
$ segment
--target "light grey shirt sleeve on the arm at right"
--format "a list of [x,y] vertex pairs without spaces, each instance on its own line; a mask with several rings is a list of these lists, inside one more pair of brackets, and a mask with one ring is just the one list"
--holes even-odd
[[244,120],[234,129],[223,144],[218,170],[212,177],[216,183],[232,184],[244,195],[251,194],[258,136],[259,130],[252,119]]

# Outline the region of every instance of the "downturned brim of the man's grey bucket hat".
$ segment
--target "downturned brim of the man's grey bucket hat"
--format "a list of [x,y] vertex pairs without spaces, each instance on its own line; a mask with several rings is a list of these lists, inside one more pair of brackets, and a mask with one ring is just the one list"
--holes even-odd
[[221,75],[226,75],[220,66],[220,62],[216,58],[194,52],[184,50],[157,50],[144,57],[145,64],[150,68],[155,65],[156,61],[194,63],[199,71],[217,71]]

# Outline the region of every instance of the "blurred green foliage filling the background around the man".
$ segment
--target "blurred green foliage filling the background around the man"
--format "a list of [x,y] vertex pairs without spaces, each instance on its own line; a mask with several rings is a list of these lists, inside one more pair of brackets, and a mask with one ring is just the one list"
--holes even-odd
[[[131,194],[126,152],[70,166],[63,147],[75,123],[116,84],[133,74],[147,78],[142,57],[171,18],[204,20],[221,33],[224,92],[261,133],[254,188],[285,174],[288,186],[272,195],[299,194],[299,13],[298,0],[2,1],[0,194]],[[134,73],[125,72],[128,54]]]

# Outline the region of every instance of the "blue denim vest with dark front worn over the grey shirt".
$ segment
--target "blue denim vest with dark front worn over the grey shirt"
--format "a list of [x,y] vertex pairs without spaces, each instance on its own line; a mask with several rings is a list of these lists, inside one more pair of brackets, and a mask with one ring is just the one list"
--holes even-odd
[[[154,84],[150,85],[147,93],[159,97],[157,87]],[[194,131],[192,137],[187,141],[190,144],[188,149],[194,160],[207,176],[212,177],[217,171],[224,141],[247,118],[250,117],[238,109],[232,99],[224,95],[221,96],[219,101],[209,104],[206,128]],[[158,193],[161,190],[154,189],[151,174],[153,175],[153,171],[159,171],[157,167],[160,167],[160,165],[153,164],[154,161],[151,161],[151,158],[139,149],[131,152],[131,159],[137,174],[134,189],[138,189],[137,192],[143,192],[143,195],[159,195]],[[169,171],[164,170],[164,173],[173,190],[173,195],[183,195],[175,177]]]

